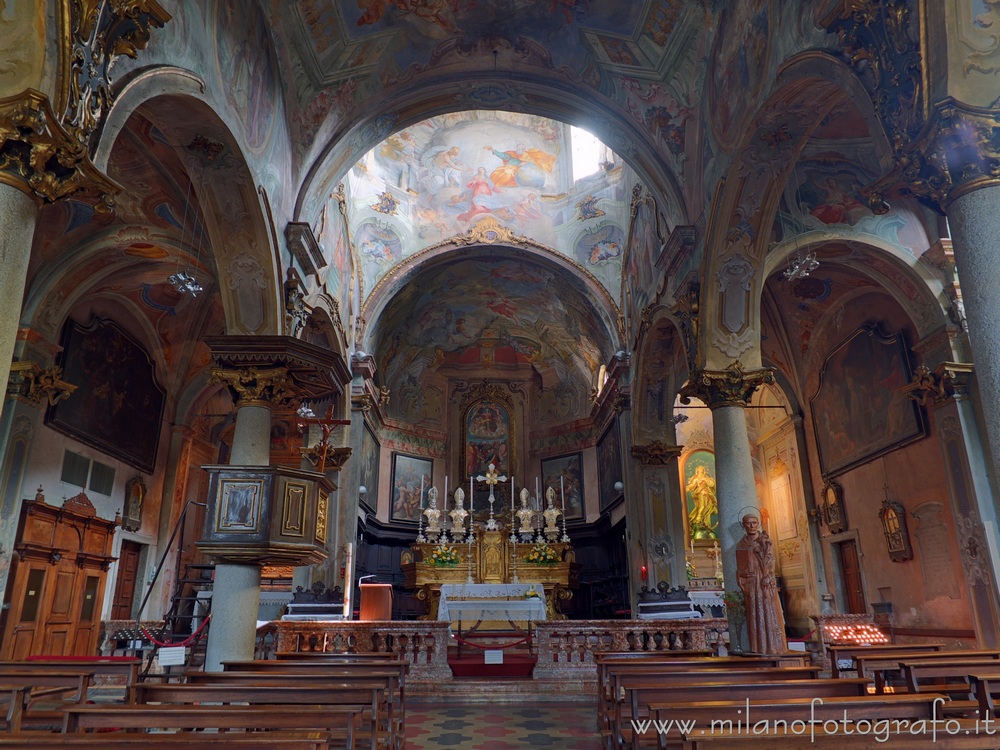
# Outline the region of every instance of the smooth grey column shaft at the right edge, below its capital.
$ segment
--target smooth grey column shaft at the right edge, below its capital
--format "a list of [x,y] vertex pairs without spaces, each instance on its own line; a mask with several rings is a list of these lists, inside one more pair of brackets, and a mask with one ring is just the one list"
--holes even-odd
[[[983,421],[989,438],[989,470],[1000,477],[1000,185],[959,195],[948,205],[955,265],[976,363]],[[995,512],[995,511],[994,511]]]

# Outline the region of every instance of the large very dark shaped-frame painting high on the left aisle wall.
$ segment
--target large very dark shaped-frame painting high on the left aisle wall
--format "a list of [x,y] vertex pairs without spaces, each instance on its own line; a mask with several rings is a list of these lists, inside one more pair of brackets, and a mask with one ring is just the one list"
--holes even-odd
[[45,423],[151,474],[156,465],[166,393],[142,345],[111,320],[69,320],[63,331],[63,380],[72,398],[49,406]]

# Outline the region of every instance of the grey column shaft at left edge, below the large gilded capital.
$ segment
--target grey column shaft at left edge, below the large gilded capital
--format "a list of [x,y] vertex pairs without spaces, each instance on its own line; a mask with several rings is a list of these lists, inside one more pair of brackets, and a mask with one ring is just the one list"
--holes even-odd
[[0,182],[0,393],[6,391],[10,375],[37,219],[34,199]]

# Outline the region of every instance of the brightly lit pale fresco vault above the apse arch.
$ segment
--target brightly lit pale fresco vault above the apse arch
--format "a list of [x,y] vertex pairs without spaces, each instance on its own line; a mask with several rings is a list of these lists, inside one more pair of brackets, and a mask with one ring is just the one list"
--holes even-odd
[[546,118],[459,112],[393,134],[346,183],[364,295],[398,263],[488,217],[562,253],[617,299],[635,176],[600,151],[577,181],[570,128]]

